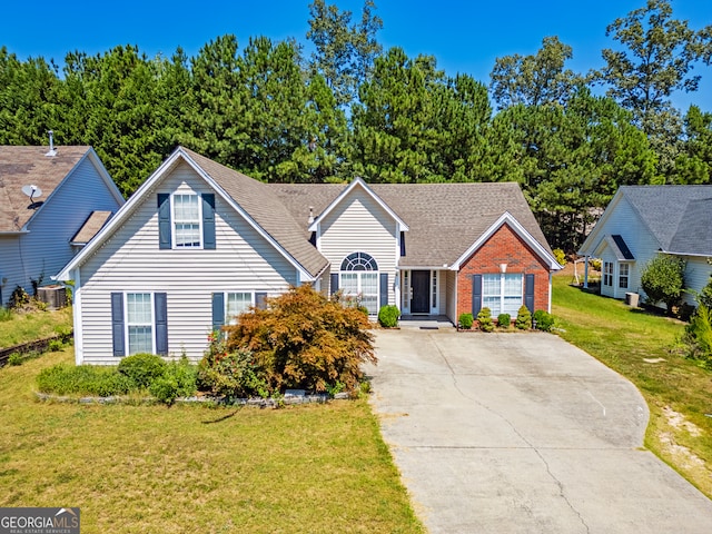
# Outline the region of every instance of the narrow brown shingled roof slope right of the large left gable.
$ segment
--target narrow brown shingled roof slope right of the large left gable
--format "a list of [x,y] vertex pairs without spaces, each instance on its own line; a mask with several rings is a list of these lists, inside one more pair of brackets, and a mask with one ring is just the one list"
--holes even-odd
[[187,148],[181,150],[308,273],[316,276],[328,265],[328,260],[309,243],[308,238],[305,238],[306,219],[295,220],[285,205],[271,195],[267,184],[229,169]]

